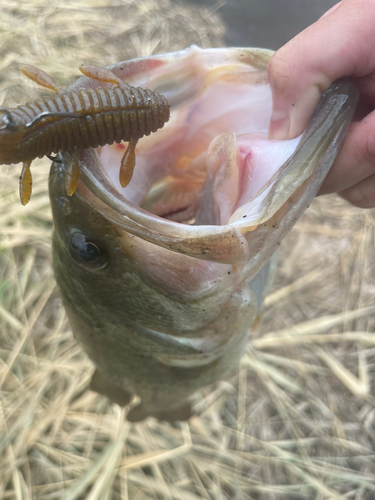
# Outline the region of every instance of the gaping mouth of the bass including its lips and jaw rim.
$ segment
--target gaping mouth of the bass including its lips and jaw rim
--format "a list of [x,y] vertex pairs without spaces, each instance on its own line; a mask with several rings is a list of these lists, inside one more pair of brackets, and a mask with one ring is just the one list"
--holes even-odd
[[[300,138],[268,140],[271,55],[191,47],[112,66],[127,83],[163,94],[171,118],[139,141],[126,188],[119,182],[124,144],[82,152],[81,195],[89,190],[90,203],[132,234],[216,262],[244,260],[249,235],[268,225],[271,254],[319,189],[356,101],[350,83],[335,84]],[[75,85],[85,82],[92,85]]]

